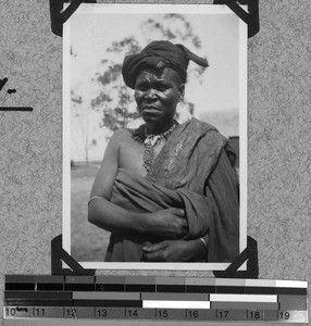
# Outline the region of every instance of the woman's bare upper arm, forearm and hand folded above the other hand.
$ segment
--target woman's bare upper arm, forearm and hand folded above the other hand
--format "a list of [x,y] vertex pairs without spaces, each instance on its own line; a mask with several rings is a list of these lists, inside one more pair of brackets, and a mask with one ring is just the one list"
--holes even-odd
[[[127,130],[117,130],[108,143],[96,176],[89,202],[88,221],[113,233],[141,233],[166,239],[181,238],[187,229],[184,210],[167,209],[156,213],[134,213],[112,203],[112,188],[119,170],[120,145]],[[100,197],[100,198],[98,198]]]

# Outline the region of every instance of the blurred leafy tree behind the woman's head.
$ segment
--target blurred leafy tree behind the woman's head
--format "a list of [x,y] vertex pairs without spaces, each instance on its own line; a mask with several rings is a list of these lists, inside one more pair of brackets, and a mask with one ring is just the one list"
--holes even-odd
[[[91,106],[103,112],[101,125],[111,131],[125,128],[139,118],[133,92],[124,85],[122,79],[122,61],[125,54],[137,53],[147,43],[156,39],[166,39],[174,43],[182,42],[186,47],[195,47],[196,49],[201,47],[201,41],[195,35],[190,23],[179,14],[166,14],[148,18],[141,23],[140,27],[141,40],[138,40],[139,36],[129,36],[112,42],[105,51],[109,59],[101,61],[103,73],[97,73],[95,77],[101,86],[101,91],[91,101]],[[199,78],[202,72],[203,67],[196,65],[188,70],[188,75]],[[194,103],[184,101],[183,110],[192,115]],[[179,114],[177,111],[177,117]]]

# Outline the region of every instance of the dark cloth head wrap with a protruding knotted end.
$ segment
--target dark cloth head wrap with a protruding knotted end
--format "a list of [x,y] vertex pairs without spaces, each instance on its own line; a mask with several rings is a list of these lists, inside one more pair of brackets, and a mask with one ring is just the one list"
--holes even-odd
[[122,75],[124,83],[135,88],[138,74],[144,68],[162,70],[171,67],[176,71],[186,82],[189,60],[201,66],[209,66],[206,59],[192,53],[183,45],[173,45],[170,41],[153,41],[142,49],[138,54],[126,55],[123,61]]

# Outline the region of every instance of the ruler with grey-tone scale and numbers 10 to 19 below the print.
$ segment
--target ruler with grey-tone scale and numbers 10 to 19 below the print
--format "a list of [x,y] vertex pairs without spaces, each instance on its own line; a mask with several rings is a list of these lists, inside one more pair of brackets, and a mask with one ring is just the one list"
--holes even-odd
[[308,323],[307,281],[5,276],[4,318]]

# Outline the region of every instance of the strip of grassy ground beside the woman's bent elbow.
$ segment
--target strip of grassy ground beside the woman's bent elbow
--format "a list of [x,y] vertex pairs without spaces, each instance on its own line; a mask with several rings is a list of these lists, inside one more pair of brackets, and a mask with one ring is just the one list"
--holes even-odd
[[77,262],[103,262],[110,233],[87,220],[87,202],[99,164],[75,164],[72,167],[71,254]]

